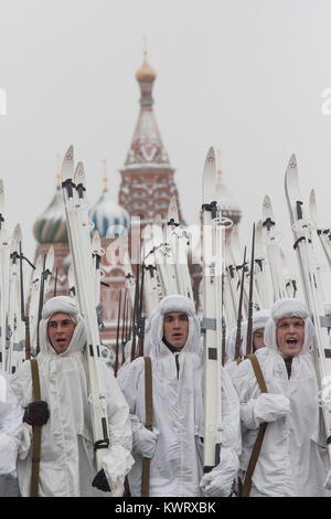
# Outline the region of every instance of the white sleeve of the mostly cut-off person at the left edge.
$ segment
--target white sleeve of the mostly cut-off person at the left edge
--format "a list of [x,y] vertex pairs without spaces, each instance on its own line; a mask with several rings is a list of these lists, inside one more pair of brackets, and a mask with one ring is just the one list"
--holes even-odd
[[22,435],[22,411],[10,388],[9,378],[0,374],[0,474],[11,474],[17,467]]

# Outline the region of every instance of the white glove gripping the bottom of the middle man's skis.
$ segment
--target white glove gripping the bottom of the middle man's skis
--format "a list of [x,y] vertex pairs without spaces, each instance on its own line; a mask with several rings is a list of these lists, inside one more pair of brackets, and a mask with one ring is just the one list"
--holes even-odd
[[236,453],[229,447],[221,447],[220,463],[210,473],[206,473],[200,487],[206,497],[229,497],[233,481],[239,469]]

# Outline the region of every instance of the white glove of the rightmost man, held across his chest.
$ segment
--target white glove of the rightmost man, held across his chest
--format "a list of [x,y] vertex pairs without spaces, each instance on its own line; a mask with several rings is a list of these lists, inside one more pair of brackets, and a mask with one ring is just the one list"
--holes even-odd
[[254,403],[254,417],[259,425],[263,422],[276,422],[290,412],[290,401],[284,394],[263,393]]

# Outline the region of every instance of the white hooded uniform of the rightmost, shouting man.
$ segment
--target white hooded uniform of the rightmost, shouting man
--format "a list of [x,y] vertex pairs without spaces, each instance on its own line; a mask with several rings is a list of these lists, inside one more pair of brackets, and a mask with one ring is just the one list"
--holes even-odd
[[[292,358],[290,378],[276,342],[277,322],[285,317],[300,317],[305,320],[303,347],[300,353]],[[252,497],[331,495],[323,488],[328,457],[311,353],[313,333],[313,325],[303,304],[298,299],[280,299],[271,308],[265,328],[266,348],[255,353],[268,394],[260,394],[248,359],[233,373],[232,380],[241,400],[243,426],[242,481],[258,426],[268,422],[252,478]]]

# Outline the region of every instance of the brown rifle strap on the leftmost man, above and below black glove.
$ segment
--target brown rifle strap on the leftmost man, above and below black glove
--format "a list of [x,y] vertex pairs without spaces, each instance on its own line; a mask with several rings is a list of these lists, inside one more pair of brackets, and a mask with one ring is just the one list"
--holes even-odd
[[[30,360],[32,375],[33,400],[41,401],[39,369],[36,359]],[[31,492],[30,497],[38,497],[39,489],[39,469],[40,469],[40,448],[41,448],[41,426],[32,427],[32,465],[31,465]]]

